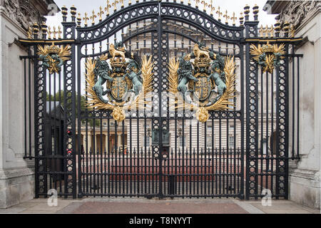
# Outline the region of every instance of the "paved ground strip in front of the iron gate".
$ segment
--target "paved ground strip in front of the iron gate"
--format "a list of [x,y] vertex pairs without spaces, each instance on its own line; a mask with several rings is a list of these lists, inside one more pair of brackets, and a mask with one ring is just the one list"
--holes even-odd
[[76,213],[76,214],[320,214],[318,209],[302,207],[288,200],[273,200],[263,207],[260,201],[238,199],[58,199],[57,207],[49,207],[46,199],[31,199],[0,213]]

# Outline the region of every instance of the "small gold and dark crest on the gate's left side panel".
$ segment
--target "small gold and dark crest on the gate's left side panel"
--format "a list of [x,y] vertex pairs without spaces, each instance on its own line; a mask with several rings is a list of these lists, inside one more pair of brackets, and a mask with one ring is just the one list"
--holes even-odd
[[49,73],[59,73],[63,63],[68,61],[71,56],[71,46],[56,46],[52,43],[51,46],[38,46],[39,60],[42,61],[42,66],[48,69]]

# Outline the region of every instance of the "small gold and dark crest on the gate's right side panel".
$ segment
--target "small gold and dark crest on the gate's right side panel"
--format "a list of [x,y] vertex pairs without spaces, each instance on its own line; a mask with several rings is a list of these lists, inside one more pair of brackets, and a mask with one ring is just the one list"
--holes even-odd
[[260,44],[255,46],[251,44],[250,54],[253,55],[253,59],[263,68],[263,72],[273,73],[273,70],[280,66],[280,61],[284,58],[285,44],[280,46],[277,44],[270,44],[267,42],[263,46]]

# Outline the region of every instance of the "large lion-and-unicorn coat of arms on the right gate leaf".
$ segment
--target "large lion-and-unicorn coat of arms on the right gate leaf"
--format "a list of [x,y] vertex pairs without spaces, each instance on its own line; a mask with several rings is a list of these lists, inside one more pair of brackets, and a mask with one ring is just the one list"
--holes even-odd
[[234,56],[223,58],[196,43],[192,53],[170,60],[168,81],[175,109],[197,109],[196,118],[202,123],[210,117],[209,110],[235,106],[230,101],[235,97]]

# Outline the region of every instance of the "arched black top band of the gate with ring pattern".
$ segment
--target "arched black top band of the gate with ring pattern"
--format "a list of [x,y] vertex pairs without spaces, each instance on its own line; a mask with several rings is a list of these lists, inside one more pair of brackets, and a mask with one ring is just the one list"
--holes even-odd
[[[78,40],[93,43],[111,36],[129,24],[151,19],[153,22],[168,19],[193,25],[220,41],[235,43],[243,38],[244,26],[228,26],[199,9],[178,3],[148,1],[128,6],[93,26],[78,27]],[[157,30],[157,28],[155,28]]]

